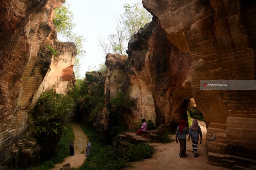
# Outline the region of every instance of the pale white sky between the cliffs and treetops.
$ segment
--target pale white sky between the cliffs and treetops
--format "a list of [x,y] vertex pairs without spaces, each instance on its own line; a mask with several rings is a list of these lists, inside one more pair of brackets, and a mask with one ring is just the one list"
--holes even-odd
[[88,67],[98,68],[105,63],[105,54],[99,46],[99,39],[107,37],[114,32],[115,15],[123,13],[123,5],[130,5],[136,0],[66,0],[70,3],[70,10],[74,14],[76,24],[73,32],[86,38],[83,49],[86,56],[80,60],[81,77],[85,77]]

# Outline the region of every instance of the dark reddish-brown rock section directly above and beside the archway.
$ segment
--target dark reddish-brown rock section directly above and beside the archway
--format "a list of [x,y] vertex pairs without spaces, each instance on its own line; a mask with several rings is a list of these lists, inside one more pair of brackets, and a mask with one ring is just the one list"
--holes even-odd
[[191,57],[170,44],[157,19],[149,38],[149,53],[156,123],[176,129],[177,123],[187,118],[188,101],[193,98]]

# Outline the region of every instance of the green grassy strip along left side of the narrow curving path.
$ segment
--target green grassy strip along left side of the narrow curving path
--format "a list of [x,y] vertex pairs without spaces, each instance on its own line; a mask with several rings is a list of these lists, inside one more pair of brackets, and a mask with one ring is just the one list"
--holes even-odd
[[69,125],[67,127],[66,133],[61,135],[60,141],[58,143],[57,148],[55,149],[55,154],[52,156],[50,160],[42,163],[39,166],[40,170],[48,170],[54,167],[54,164],[61,163],[64,161],[65,157],[69,155],[69,143],[70,141],[74,141],[75,135],[73,133],[72,127]]

